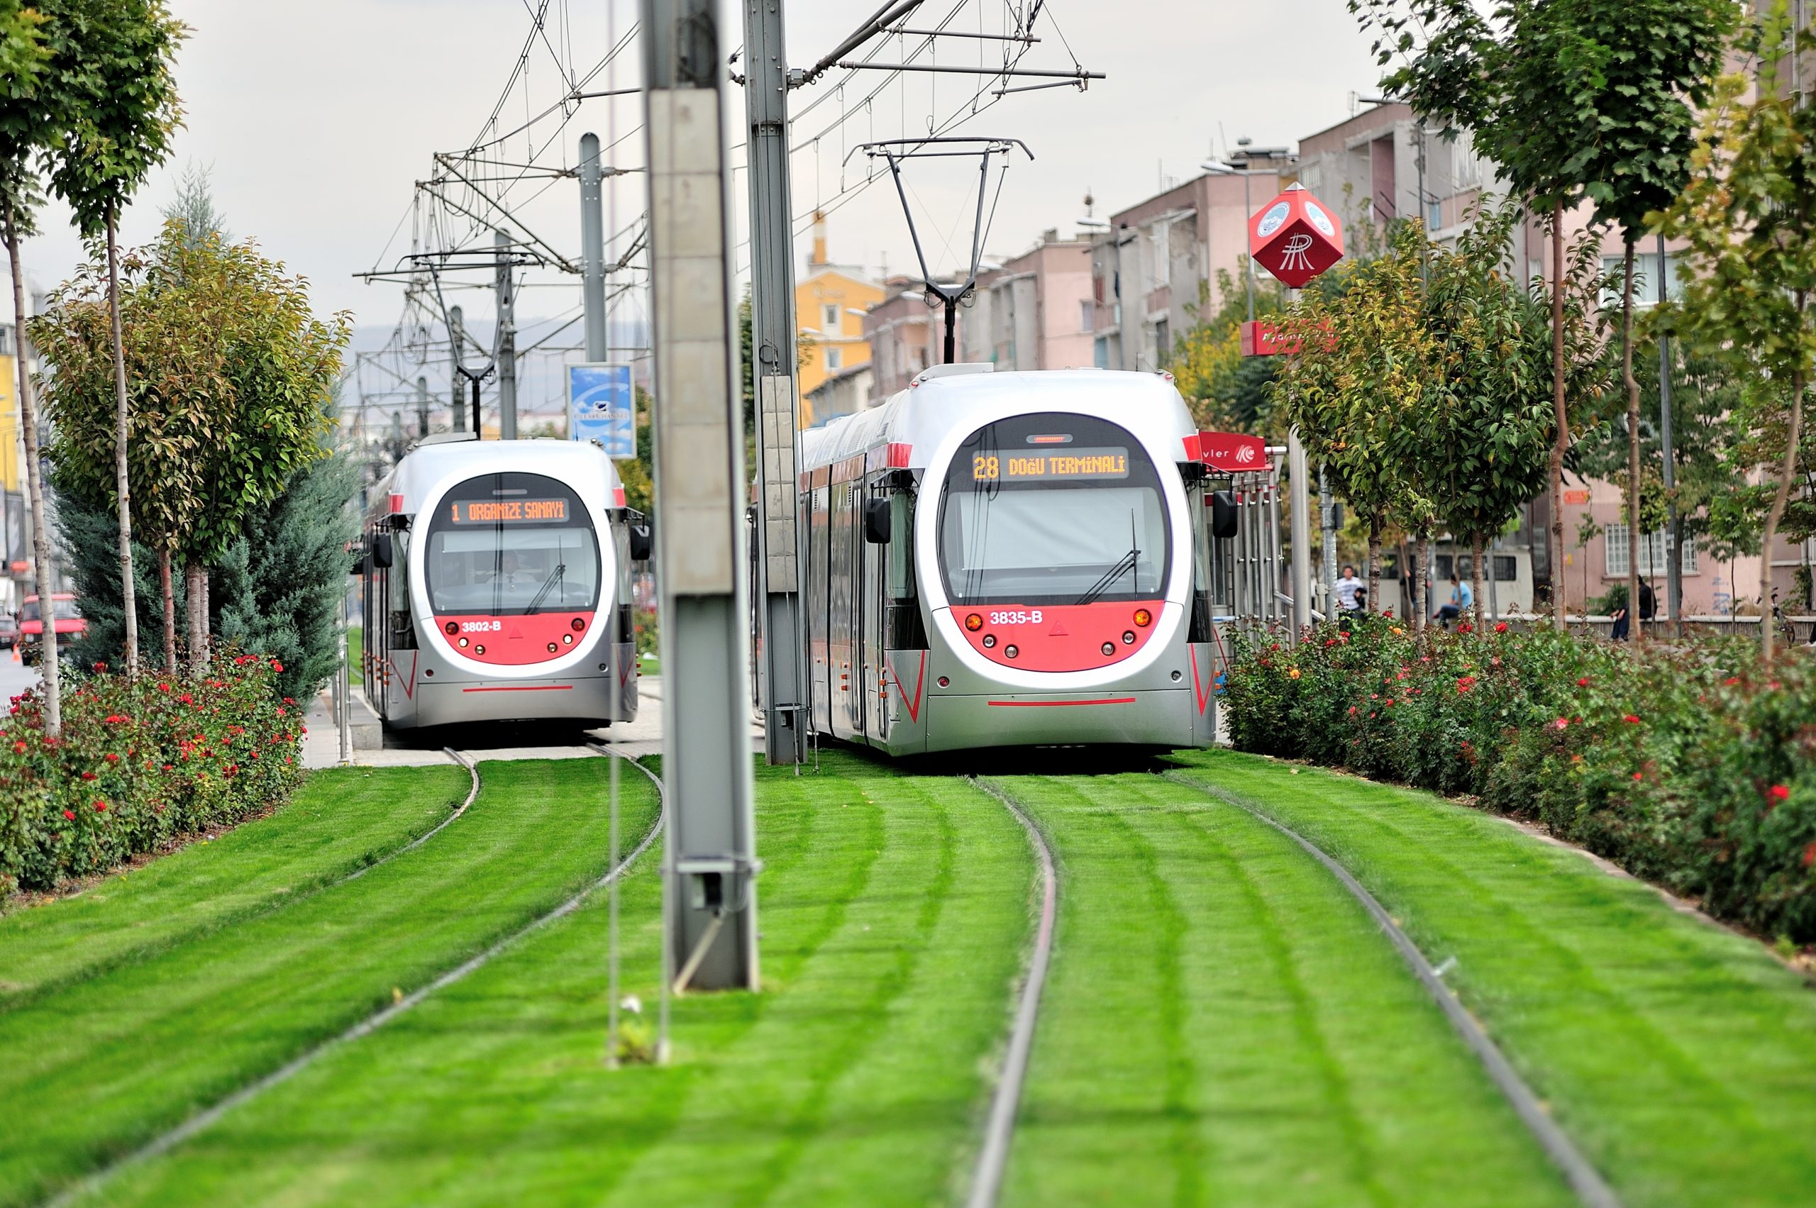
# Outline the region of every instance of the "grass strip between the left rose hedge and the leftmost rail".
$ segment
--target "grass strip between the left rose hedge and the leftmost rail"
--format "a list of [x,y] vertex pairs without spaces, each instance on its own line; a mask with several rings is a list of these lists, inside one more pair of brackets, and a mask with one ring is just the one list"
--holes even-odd
[[443,821],[470,783],[454,765],[314,772],[271,817],[0,916],[0,1012],[340,881]]

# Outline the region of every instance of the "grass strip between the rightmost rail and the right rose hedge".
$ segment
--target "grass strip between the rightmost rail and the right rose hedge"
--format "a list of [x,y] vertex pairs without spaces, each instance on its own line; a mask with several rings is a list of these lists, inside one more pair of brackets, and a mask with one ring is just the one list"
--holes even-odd
[[1816,1201],[1816,988],[1756,943],[1429,794],[1182,759],[1455,957],[1446,981],[1631,1208]]

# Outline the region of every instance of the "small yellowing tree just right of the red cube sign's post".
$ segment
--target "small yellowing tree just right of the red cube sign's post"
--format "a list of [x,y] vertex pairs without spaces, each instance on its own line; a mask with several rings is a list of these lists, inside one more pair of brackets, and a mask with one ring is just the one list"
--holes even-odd
[[[1413,223],[1402,231],[1422,238]],[[1329,469],[1367,523],[1371,607],[1380,599],[1382,529],[1411,490],[1400,454],[1433,358],[1416,247],[1407,251],[1402,240],[1386,256],[1351,263],[1329,292],[1298,296],[1280,320],[1282,338],[1298,351],[1280,358],[1271,391],[1308,456]]]

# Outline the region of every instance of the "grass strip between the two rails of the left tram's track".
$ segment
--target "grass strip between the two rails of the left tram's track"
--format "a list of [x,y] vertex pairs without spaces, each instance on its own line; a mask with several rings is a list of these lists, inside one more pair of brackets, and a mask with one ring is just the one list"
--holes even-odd
[[131,1152],[596,877],[603,763],[481,765],[459,823],[369,876],[0,1015],[0,1101],[31,1104],[0,1117],[0,1204]]

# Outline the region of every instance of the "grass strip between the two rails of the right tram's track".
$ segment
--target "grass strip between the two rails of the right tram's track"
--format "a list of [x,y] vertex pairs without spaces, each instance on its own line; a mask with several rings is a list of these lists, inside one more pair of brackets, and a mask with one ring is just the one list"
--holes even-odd
[[1004,1203],[1573,1203],[1387,939],[1289,839],[1155,776],[995,783],[1061,863]]

